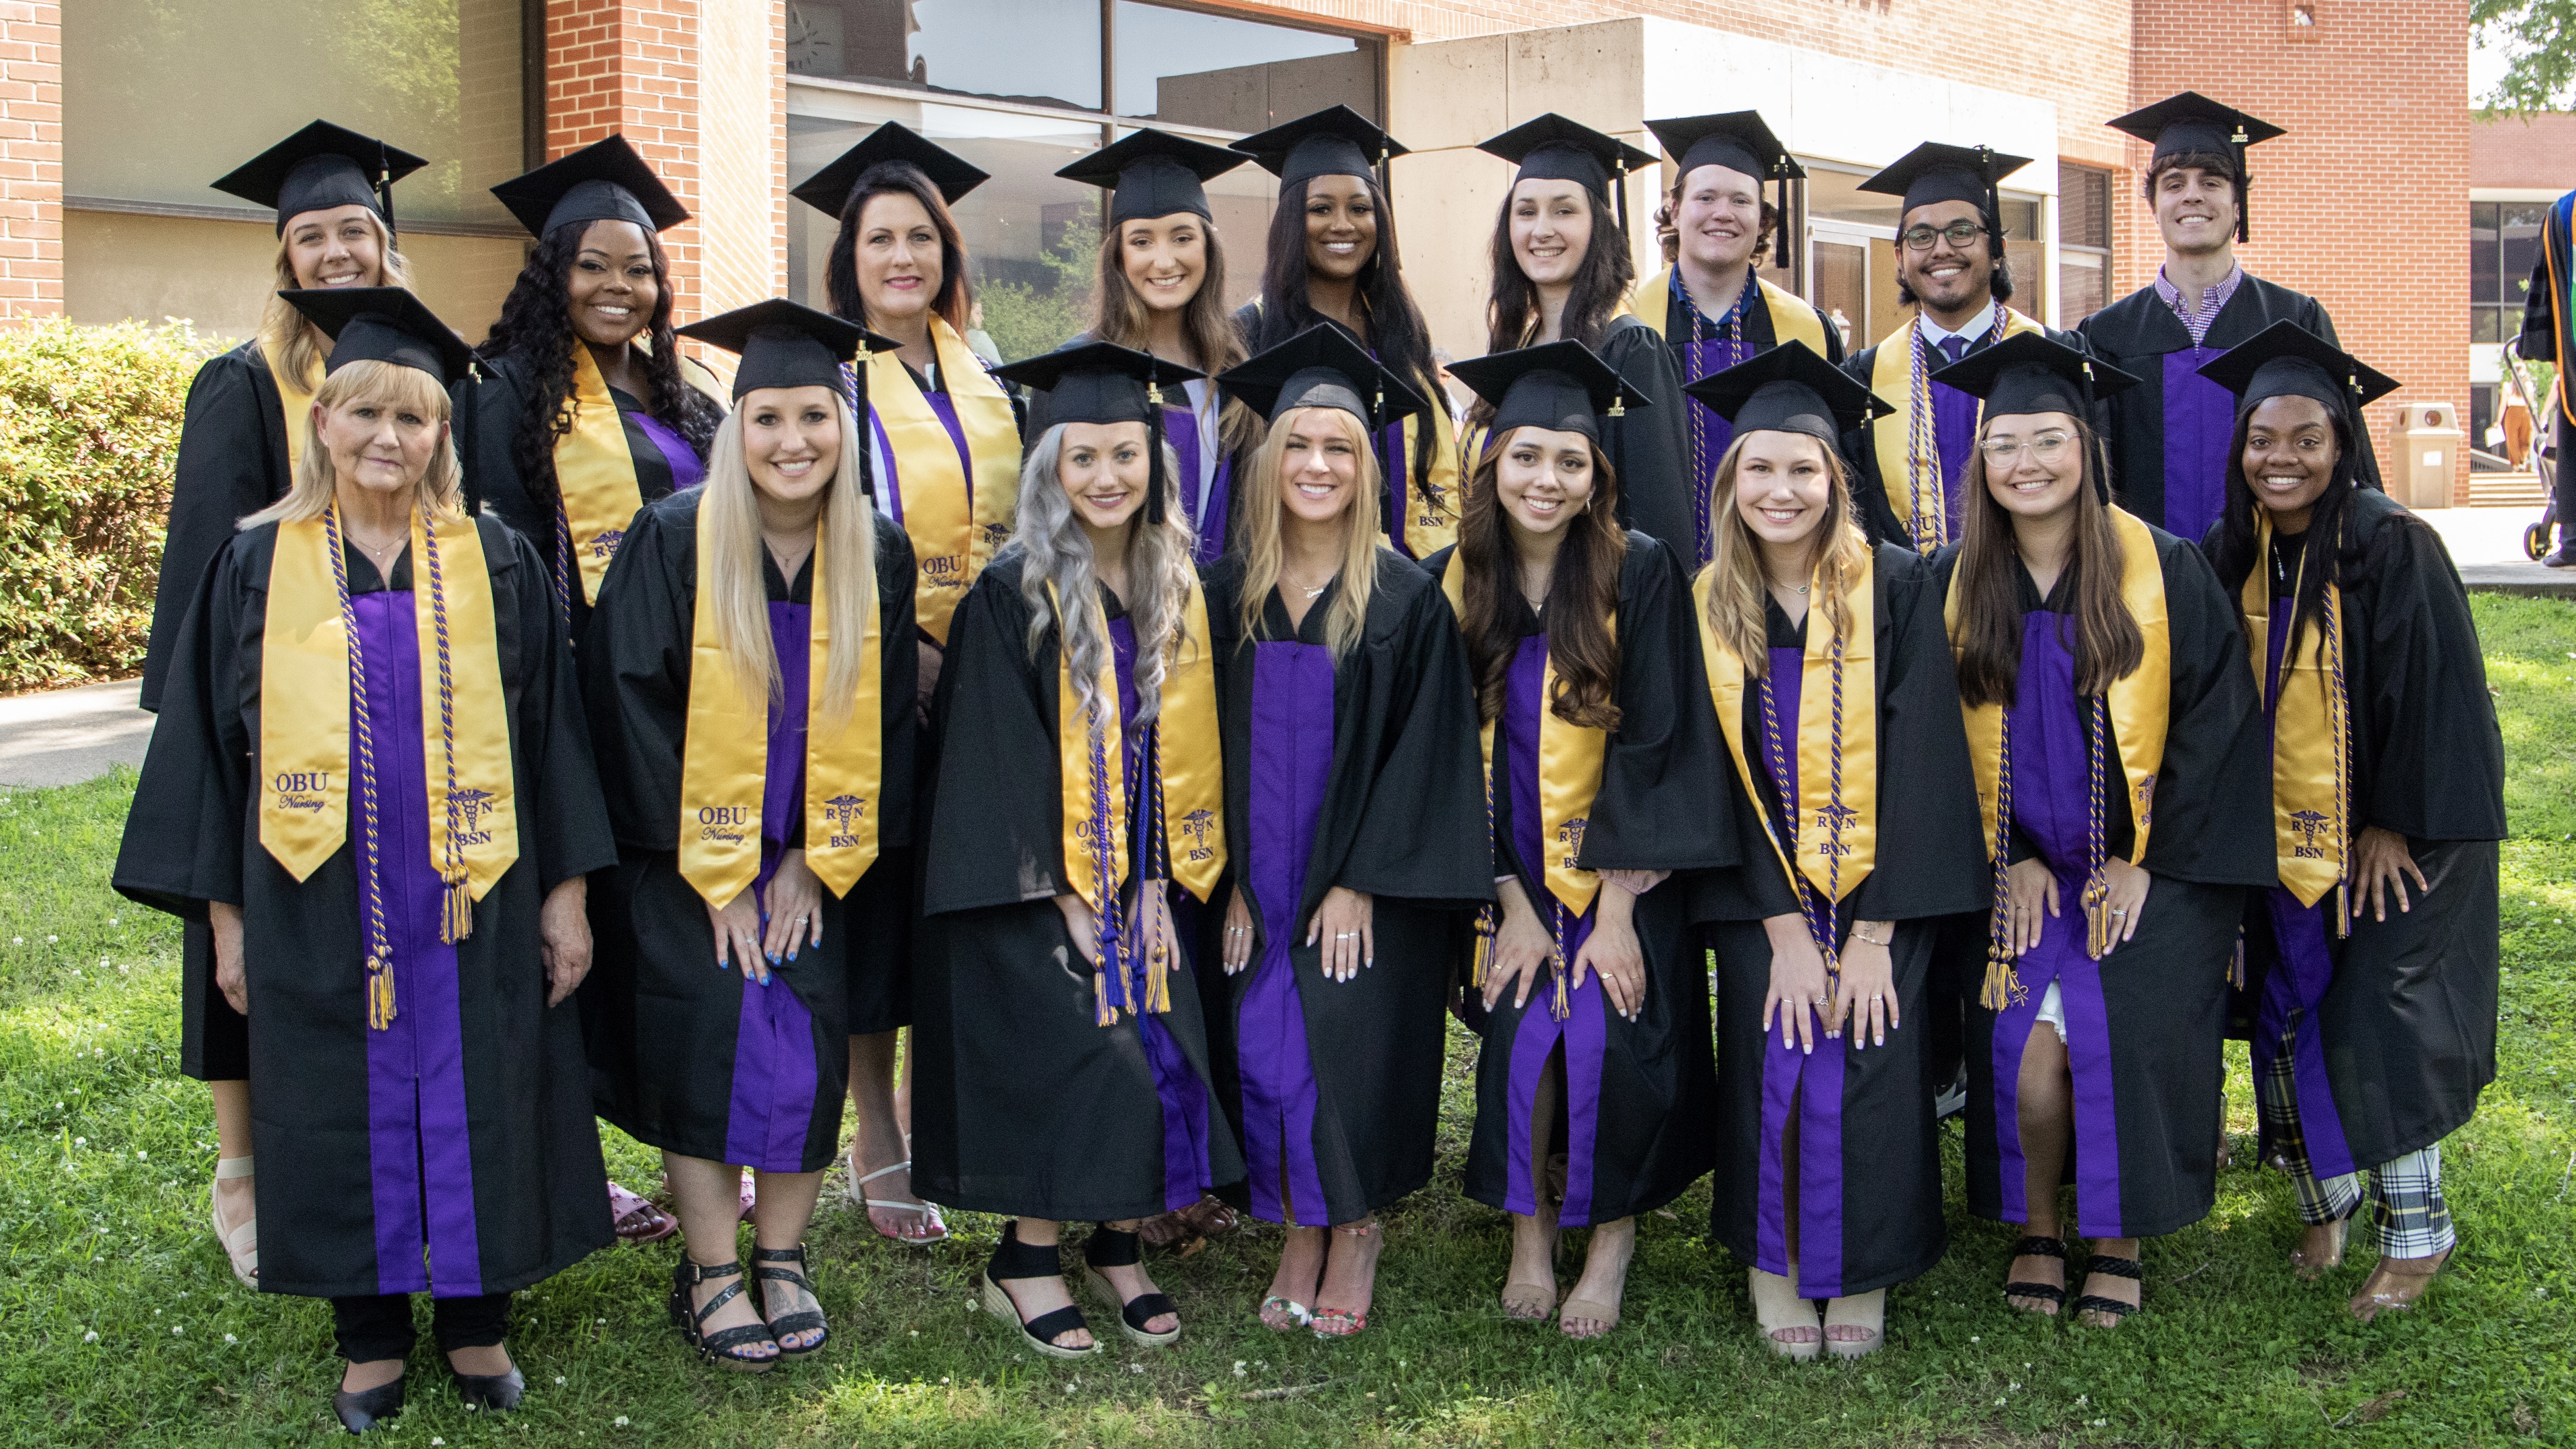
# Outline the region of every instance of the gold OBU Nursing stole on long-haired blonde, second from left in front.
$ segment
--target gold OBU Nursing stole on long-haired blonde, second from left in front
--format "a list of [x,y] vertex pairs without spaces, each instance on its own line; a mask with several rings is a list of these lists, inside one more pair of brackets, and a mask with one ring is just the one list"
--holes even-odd
[[[688,734],[680,746],[680,875],[719,911],[760,878],[760,808],[768,790],[768,700],[755,700],[716,636],[716,569],[698,510],[698,602],[690,610]],[[814,613],[806,638],[806,867],[835,896],[876,860],[884,782],[884,638],[876,610],[860,636],[858,692],[832,728],[824,677],[832,659],[829,558],[814,530]],[[773,646],[775,649],[775,646]],[[909,646],[907,646],[909,649]]]

